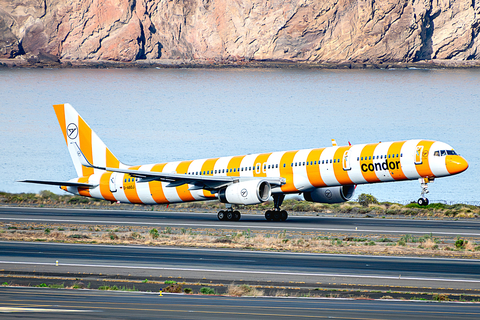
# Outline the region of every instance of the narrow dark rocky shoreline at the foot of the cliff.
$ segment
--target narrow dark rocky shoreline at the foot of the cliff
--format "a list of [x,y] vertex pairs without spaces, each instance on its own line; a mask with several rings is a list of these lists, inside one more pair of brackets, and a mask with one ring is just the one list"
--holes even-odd
[[131,62],[109,60],[59,60],[59,59],[0,59],[1,68],[54,68],[54,69],[480,69],[480,61],[424,60],[418,62],[304,62],[290,60],[135,60]]

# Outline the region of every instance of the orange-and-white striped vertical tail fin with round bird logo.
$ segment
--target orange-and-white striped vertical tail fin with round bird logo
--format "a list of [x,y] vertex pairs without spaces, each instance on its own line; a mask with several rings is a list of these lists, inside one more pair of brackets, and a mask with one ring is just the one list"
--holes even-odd
[[79,177],[91,175],[96,169],[82,166],[74,143],[80,147],[87,160],[94,166],[124,167],[70,104],[56,104],[53,108]]

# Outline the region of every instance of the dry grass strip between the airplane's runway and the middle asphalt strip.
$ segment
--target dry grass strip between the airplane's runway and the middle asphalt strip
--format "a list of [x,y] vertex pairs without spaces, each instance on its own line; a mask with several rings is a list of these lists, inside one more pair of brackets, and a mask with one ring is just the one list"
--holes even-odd
[[[120,228],[120,229],[116,229]],[[168,229],[167,229],[168,228]],[[0,239],[20,241],[55,241],[65,243],[99,243],[124,245],[182,246],[205,248],[252,249],[313,253],[344,253],[366,255],[441,256],[480,258],[475,239],[455,248],[455,239],[434,239],[431,235],[411,237],[405,246],[395,243],[400,236],[377,242],[379,235],[368,238],[303,231],[242,231],[226,229],[170,228],[157,230],[135,226],[60,225],[0,222]],[[46,232],[48,229],[49,232]],[[397,237],[396,239],[394,237]],[[477,239],[478,240],[478,239]],[[420,243],[421,242],[421,243]],[[432,250],[437,249],[438,250]],[[476,249],[477,248],[477,249]],[[478,251],[476,251],[478,250]]]

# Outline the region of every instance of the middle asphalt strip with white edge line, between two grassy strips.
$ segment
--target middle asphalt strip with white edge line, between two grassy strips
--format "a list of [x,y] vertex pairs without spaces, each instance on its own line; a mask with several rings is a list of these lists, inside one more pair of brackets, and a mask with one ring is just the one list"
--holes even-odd
[[[58,261],[59,266],[56,267]],[[261,252],[176,247],[0,242],[0,268],[196,276],[236,281],[325,279],[478,289],[480,260]],[[23,268],[23,269],[22,269]],[[25,269],[27,268],[27,269]]]

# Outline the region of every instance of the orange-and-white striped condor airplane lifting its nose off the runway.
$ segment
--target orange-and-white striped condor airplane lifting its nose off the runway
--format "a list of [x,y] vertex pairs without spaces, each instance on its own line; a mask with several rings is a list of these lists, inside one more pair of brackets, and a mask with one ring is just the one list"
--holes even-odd
[[341,203],[357,185],[416,180],[417,203],[428,205],[428,183],[468,168],[467,161],[443,142],[406,140],[269,152],[210,159],[129,166],[118,160],[70,104],[54,105],[78,177],[69,181],[22,180],[57,185],[76,195],[133,204],[219,200],[219,220],[238,221],[238,205],[273,197],[268,221],[285,221],[281,205],[288,194],[306,201]]

